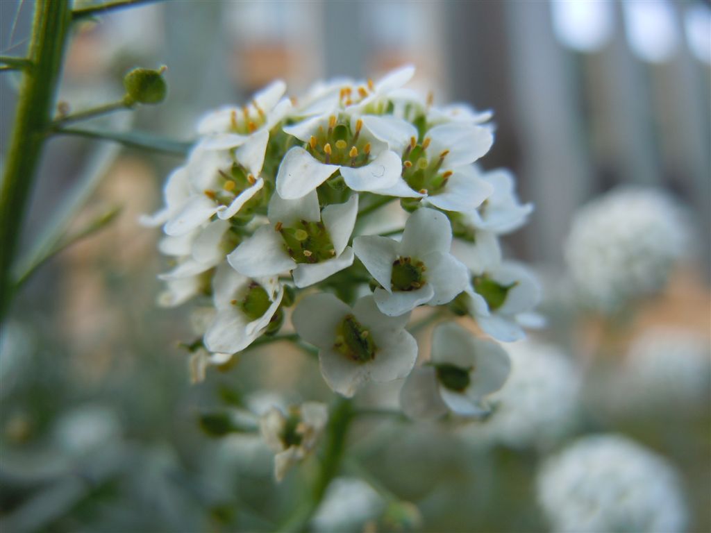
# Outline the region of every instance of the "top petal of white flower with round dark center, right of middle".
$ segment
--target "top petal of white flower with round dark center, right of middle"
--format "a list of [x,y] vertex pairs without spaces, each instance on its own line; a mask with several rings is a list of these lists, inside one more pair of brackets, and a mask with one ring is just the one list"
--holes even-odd
[[434,209],[419,208],[407,219],[400,243],[400,253],[415,259],[432,252],[449,253],[451,225],[447,215]]

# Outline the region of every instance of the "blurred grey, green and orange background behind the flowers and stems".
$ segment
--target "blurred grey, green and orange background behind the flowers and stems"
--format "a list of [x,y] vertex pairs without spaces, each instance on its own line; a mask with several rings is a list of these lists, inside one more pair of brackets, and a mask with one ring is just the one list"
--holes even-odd
[[[0,2],[2,55],[23,52],[32,10],[31,1]],[[574,436],[616,432],[672,465],[686,529],[710,531],[708,2],[166,1],[80,26],[59,99],[71,109],[112,101],[130,68],[167,65],[164,104],[102,120],[190,141],[205,111],[245,102],[276,77],[297,94],[319,78],[377,78],[402,63],[417,65],[412,85],[432,90],[436,103],[495,112],[496,142],[481,166],[511,168],[522,201],[535,203],[530,223],[506,239],[508,254],[533,264],[544,286],[548,327],[533,336],[555,345],[575,369],[565,379],[579,386],[561,415],[565,429],[545,442],[404,421],[357,428],[356,477],[369,484],[358,492],[363,510],[336,526],[326,509],[314,528],[387,531],[380,507],[402,500],[417,505],[424,531],[546,530],[535,496],[544,458]],[[17,82],[0,79],[3,154]],[[303,479],[277,489],[258,438],[210,438],[199,414],[230,402],[258,411],[272,401],[265,390],[281,394],[276,402],[327,401],[328,389],[314,362],[286,348],[250,352],[238,370],[189,383],[178,342],[195,337],[190,313],[156,306],[156,274],[166,266],[159,232],[137,223],[159,207],[162,183],[180,163],[84,139],[48,145],[24,252],[64,220],[75,190],[91,191],[83,220],[122,210],[43,266],[2,325],[3,531],[272,531],[294,505]],[[691,243],[668,283],[624,317],[579,309],[564,252],[579,208],[617,185],[667,195]],[[670,346],[658,357],[662,370],[634,367],[652,364],[635,363],[645,359],[635,354],[659,339]],[[651,375],[639,387],[649,397],[635,396],[624,372]],[[377,387],[366,397],[392,400]],[[346,501],[354,498],[343,486]]]

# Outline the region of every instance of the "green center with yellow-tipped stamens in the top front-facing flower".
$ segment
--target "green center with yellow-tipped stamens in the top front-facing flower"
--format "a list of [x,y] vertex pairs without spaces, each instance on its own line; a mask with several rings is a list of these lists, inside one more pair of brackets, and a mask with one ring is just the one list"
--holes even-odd
[[370,162],[370,143],[360,136],[363,121],[351,128],[348,117],[328,118],[328,126],[319,126],[306,143],[306,150],[314,158],[328,165],[365,166]]

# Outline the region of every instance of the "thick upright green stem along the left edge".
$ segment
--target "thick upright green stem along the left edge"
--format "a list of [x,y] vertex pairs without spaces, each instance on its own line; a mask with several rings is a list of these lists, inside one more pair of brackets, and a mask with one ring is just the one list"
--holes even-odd
[[71,22],[69,0],[37,0],[12,139],[0,190],[0,320],[14,293],[11,267],[62,69]]

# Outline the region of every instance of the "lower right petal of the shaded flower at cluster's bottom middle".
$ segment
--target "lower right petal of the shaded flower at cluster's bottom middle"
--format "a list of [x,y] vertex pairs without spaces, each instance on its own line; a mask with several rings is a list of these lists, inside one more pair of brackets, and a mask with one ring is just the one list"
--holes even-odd
[[417,360],[417,340],[405,330],[396,333],[373,333],[378,351],[369,364],[370,379],[380,383],[394,381],[410,374]]

